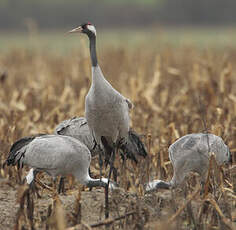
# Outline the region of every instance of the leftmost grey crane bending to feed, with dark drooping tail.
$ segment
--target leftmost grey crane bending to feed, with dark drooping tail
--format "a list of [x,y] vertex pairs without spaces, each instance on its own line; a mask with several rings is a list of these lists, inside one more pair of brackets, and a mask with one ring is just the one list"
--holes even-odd
[[[89,149],[79,140],[69,136],[39,134],[16,141],[4,165],[31,167],[26,176],[28,184],[34,181],[37,172],[44,171],[54,180],[58,175],[72,174],[81,184],[88,187],[106,187],[107,178],[90,177],[90,161]],[[115,184],[111,183],[110,187],[114,188]]]

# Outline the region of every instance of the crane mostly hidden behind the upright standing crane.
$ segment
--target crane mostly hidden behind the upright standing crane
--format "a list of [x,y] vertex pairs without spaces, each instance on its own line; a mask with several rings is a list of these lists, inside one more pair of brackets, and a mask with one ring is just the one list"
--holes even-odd
[[[62,121],[57,125],[54,133],[58,135],[72,136],[84,143],[90,150],[92,156],[99,154],[100,149],[98,145],[95,144],[87,120],[84,117],[73,117],[69,120]],[[119,152],[123,159],[128,158],[136,163],[138,162],[138,156],[147,156],[144,144],[139,135],[133,130],[129,130],[127,142],[120,146]],[[109,159],[110,155],[106,158]]]

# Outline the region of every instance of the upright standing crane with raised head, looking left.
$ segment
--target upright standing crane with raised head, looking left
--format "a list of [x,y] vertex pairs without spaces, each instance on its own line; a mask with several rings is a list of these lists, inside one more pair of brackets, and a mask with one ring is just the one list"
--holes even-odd
[[84,23],[69,33],[84,33],[89,38],[92,84],[85,99],[85,117],[96,144],[104,148],[106,153],[111,152],[109,180],[115,152],[118,146],[122,146],[128,139],[129,109],[132,108],[132,103],[115,90],[103,76],[97,61],[95,26]]

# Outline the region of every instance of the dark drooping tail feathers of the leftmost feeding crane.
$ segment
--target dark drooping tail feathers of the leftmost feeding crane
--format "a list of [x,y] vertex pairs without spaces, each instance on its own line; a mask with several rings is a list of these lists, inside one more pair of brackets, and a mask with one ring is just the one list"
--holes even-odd
[[33,141],[36,137],[42,136],[45,134],[37,134],[31,137],[23,137],[19,140],[17,140],[10,149],[8,158],[6,161],[3,163],[3,167],[5,165],[18,165],[18,168],[21,167],[21,159],[24,157],[25,149],[24,147],[27,146],[31,141]]

